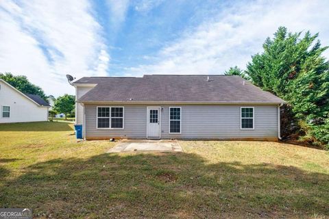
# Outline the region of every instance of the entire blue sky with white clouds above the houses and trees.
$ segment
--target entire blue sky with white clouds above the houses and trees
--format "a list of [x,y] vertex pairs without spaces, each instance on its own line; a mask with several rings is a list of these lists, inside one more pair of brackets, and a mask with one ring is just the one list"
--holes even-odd
[[327,0],[1,0],[0,73],[53,96],[75,93],[66,74],[220,75],[245,69],[280,26],[328,46],[328,21]]

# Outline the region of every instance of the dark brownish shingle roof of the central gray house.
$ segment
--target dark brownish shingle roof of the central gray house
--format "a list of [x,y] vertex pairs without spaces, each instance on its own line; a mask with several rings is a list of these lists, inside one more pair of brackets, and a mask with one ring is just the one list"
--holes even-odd
[[[208,80],[209,77],[209,80]],[[78,102],[284,103],[239,76],[144,75],[82,77],[74,82],[97,84]]]

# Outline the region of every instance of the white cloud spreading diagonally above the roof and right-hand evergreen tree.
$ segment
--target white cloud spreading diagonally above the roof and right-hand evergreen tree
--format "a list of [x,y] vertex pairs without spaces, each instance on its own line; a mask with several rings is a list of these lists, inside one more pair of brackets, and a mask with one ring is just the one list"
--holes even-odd
[[230,66],[245,68],[251,55],[262,51],[265,38],[282,25],[291,31],[320,32],[321,42],[329,45],[328,9],[329,1],[235,3],[162,48],[154,64],[126,71],[130,75],[222,74]]

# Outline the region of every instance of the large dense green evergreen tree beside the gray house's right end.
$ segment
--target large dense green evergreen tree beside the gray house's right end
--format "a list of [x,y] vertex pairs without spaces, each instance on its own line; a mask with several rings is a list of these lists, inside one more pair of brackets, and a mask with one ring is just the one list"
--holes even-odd
[[279,27],[273,39],[265,40],[263,53],[252,56],[247,74],[291,105],[293,116],[306,123],[307,135],[328,144],[329,62],[322,55],[328,47],[321,47],[317,37]]

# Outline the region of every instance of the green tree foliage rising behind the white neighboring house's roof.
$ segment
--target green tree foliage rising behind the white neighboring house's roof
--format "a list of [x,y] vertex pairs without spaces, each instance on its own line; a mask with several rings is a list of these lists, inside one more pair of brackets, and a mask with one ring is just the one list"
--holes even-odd
[[[35,86],[33,83],[29,82],[26,76],[18,75],[14,76],[12,73],[0,73],[0,79],[3,79],[11,86],[25,94],[37,94],[47,101],[47,96],[42,88]],[[47,101],[48,102],[48,101]]]

